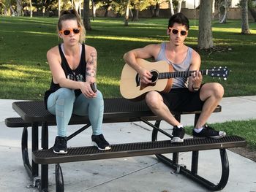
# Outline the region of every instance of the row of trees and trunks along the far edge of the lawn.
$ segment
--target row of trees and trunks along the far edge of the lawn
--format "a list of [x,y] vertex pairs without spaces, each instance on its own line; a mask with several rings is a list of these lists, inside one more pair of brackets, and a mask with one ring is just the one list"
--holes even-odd
[[[241,34],[250,34],[248,9],[252,10],[252,16],[255,16],[256,21],[255,9],[253,9],[255,5],[252,4],[252,1],[240,1],[239,6],[242,13]],[[117,16],[124,16],[124,26],[128,26],[129,18],[132,18],[132,21],[138,20],[138,13],[143,9],[150,9],[151,16],[158,17],[160,4],[162,3],[170,4],[170,15],[181,11],[182,0],[0,0],[0,13],[1,15],[30,15],[32,17],[34,10],[41,11],[42,15],[45,14],[45,11],[52,12],[53,15],[59,15],[61,9],[76,9],[80,15],[83,15],[83,23],[86,26],[86,30],[91,30],[91,10],[92,16],[95,17],[96,9],[105,9],[105,17],[108,17],[109,10],[113,9]],[[200,1],[200,6],[197,7],[197,9],[200,9],[197,45],[199,49],[211,49],[214,47],[211,30],[214,9],[215,7],[219,9],[219,23],[225,23],[229,4],[230,0]]]

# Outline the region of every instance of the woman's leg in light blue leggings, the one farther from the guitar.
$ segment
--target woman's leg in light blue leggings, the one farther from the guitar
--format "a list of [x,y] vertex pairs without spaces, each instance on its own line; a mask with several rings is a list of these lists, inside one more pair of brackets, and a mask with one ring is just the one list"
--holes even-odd
[[48,98],[48,111],[56,115],[59,137],[67,136],[67,125],[72,115],[74,101],[75,92],[69,88],[60,88]]

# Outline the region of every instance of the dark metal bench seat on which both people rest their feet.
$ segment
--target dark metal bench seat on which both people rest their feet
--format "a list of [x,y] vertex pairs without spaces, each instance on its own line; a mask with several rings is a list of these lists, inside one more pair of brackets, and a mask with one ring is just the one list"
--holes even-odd
[[137,155],[153,155],[176,153],[194,150],[211,150],[229,147],[244,147],[246,141],[237,136],[227,136],[222,139],[184,139],[183,143],[170,143],[170,140],[157,142],[135,142],[111,145],[111,150],[102,151],[97,147],[69,147],[68,153],[58,155],[52,149],[34,151],[32,158],[37,164],[60,164],[74,161],[90,161],[105,158],[121,158]]

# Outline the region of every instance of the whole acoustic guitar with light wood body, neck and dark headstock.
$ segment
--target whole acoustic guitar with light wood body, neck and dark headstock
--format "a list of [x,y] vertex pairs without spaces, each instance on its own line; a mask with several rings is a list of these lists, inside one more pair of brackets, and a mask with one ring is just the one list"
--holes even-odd
[[[140,100],[148,91],[159,91],[168,93],[172,87],[173,78],[189,77],[195,71],[174,72],[173,66],[167,64],[166,61],[149,62],[142,58],[138,58],[137,62],[140,66],[151,72],[151,83],[144,84],[140,82],[140,76],[135,69],[128,64],[124,65],[121,72],[120,93],[126,99]],[[223,77],[227,79],[229,74],[227,67],[212,69],[204,69],[200,71],[202,75],[210,77]]]

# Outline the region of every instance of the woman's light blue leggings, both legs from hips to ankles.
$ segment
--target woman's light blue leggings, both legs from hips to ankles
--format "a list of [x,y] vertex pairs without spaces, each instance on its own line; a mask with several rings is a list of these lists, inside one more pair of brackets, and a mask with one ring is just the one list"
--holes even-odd
[[51,93],[47,101],[48,111],[56,115],[58,136],[67,136],[67,125],[72,113],[75,115],[89,115],[92,134],[102,134],[102,119],[104,101],[102,93],[97,90],[95,98],[87,98],[81,93],[75,97],[75,91],[69,88],[59,88]]

